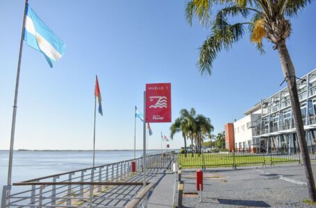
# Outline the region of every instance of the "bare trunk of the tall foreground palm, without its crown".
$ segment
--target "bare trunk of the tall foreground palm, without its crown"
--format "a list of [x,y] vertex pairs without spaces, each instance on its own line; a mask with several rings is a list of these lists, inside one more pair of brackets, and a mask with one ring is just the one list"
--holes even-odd
[[303,128],[303,120],[301,117],[301,106],[299,104],[299,96],[297,94],[297,83],[295,76],[295,69],[288,53],[285,40],[281,40],[277,44],[278,55],[281,60],[281,66],[283,74],[288,83],[288,89],[290,94],[290,101],[292,106],[292,112],[294,114],[294,124],[297,129],[297,139],[299,141],[299,148],[301,150],[301,157],[305,167],[305,175],[308,185],[308,195],[312,202],[316,201],[316,189],[315,181],[313,177],[313,171],[310,166],[310,157],[308,155],[308,148],[306,144],[305,130]]

